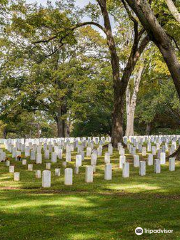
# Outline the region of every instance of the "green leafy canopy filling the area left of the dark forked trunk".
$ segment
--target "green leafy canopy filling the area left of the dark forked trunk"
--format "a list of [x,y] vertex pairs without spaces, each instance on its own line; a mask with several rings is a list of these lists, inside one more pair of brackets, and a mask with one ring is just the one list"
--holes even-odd
[[[66,36],[63,46],[55,39],[33,47],[31,42],[47,39],[47,33],[67,34],[65,30],[70,27],[70,20],[67,21],[65,12],[60,13],[50,5],[47,9],[37,8],[36,5],[26,8],[21,2],[20,5],[14,5],[13,9],[16,9],[16,15],[13,15],[6,36],[11,56],[9,61],[4,61],[3,66],[1,119],[6,121],[23,111],[41,112],[57,124],[59,120],[68,119],[71,129],[76,129],[77,124],[83,121],[87,121],[87,127],[91,129],[96,119],[98,126],[101,124],[101,132],[109,132],[112,84],[110,68],[106,67],[105,40],[91,27],[85,27],[73,35],[75,41],[72,36]],[[18,12],[23,13],[23,19]],[[61,23],[57,26],[59,21]],[[14,33],[21,36],[20,42],[23,45],[14,46],[10,40]],[[63,35],[59,37],[61,39]],[[5,54],[4,59],[6,56]],[[13,76],[12,72],[16,71],[19,72],[18,76]],[[106,101],[109,103],[106,104]],[[100,110],[102,114],[98,116]],[[94,119],[89,117],[91,115]]]

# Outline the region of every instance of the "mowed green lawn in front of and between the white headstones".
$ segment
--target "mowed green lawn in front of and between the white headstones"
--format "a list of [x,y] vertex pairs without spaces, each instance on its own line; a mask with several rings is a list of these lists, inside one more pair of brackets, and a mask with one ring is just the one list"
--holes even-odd
[[[104,180],[104,152],[98,157],[94,182],[85,183],[85,158],[73,185],[64,185],[62,161],[52,164],[52,187],[41,187],[35,171],[11,159],[21,181],[14,182],[5,163],[0,163],[0,239],[110,240],[110,239],[180,239],[180,163],[169,172],[168,162],[160,174],[147,166],[147,175],[139,176],[130,164],[130,177],[122,178],[119,154],[111,157],[113,180]],[[75,155],[68,167],[74,168]],[[10,156],[10,155],[9,155]],[[65,156],[64,156],[65,157]],[[26,158],[28,159],[28,158]],[[32,163],[28,159],[28,163]],[[44,162],[50,162],[44,161]],[[56,177],[54,168],[61,168]],[[45,169],[34,164],[34,170]],[[168,229],[172,234],[135,235],[135,228]]]

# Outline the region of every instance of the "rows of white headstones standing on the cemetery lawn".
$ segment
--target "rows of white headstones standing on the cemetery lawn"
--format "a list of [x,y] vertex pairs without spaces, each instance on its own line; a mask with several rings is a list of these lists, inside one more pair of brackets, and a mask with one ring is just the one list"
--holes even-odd
[[[79,168],[83,165],[83,160],[86,156],[90,157],[90,164],[86,166],[85,181],[93,182],[93,173],[96,171],[97,160],[102,156],[103,144],[107,141],[108,150],[105,152],[104,163],[106,180],[112,179],[112,165],[111,156],[113,154],[113,147],[110,143],[110,138],[71,138],[71,139],[8,139],[0,140],[5,145],[6,150],[12,153],[12,157],[17,160],[17,157],[25,152],[31,160],[35,160],[36,164],[42,164],[43,154],[45,159],[51,159],[51,162],[46,163],[46,170],[51,169],[51,163],[56,163],[58,159],[62,159],[63,151],[65,151],[66,161],[62,165],[66,168],[67,162],[71,162],[71,152],[77,150],[78,154],[75,156],[74,173],[79,174]],[[180,143],[180,136],[138,136],[138,137],[124,137],[124,142],[127,144],[127,152],[133,155],[134,167],[139,167],[139,175],[146,175],[146,161],[140,160],[140,156],[147,157],[147,164],[153,165],[154,172],[161,172],[161,165],[166,163],[166,152],[172,153],[175,151]],[[146,146],[145,146],[146,145]],[[125,149],[121,143],[118,144],[119,150],[119,168],[122,168],[122,176],[129,177],[129,162],[126,161]],[[0,149],[0,161],[6,157],[6,153]],[[154,160],[155,157],[155,160]],[[27,165],[27,160],[22,159],[22,165]],[[9,172],[14,172],[14,166],[10,165],[10,161],[6,161],[6,166],[9,166]],[[33,164],[28,164],[28,171],[33,171]],[[169,159],[169,170],[175,170],[175,159]],[[40,178],[41,172],[37,170],[36,176]],[[55,174],[60,175],[60,170],[55,169]],[[72,184],[73,170],[71,168],[65,169],[65,184]],[[17,173],[18,176],[18,173]],[[49,175],[48,175],[49,176]],[[45,177],[43,177],[44,179]],[[18,177],[14,177],[18,179]],[[20,174],[19,174],[20,179]],[[46,178],[45,178],[46,180]],[[44,181],[45,181],[44,180]],[[17,181],[17,180],[16,180]]]

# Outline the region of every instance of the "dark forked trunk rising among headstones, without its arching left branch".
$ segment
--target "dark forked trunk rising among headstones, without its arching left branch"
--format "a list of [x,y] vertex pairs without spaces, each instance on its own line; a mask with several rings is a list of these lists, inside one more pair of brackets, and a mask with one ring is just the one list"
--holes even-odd
[[131,54],[129,56],[127,65],[124,69],[123,76],[120,79],[120,68],[119,68],[119,58],[116,51],[116,44],[112,34],[111,23],[109,19],[109,14],[106,8],[106,0],[97,0],[101,8],[101,12],[104,19],[105,33],[107,37],[107,45],[111,55],[111,65],[113,73],[113,88],[114,88],[114,109],[113,109],[113,124],[112,124],[112,144],[117,147],[118,143],[123,143],[123,107],[124,98],[126,93],[126,88],[130,76],[134,70],[134,67],[144,51],[145,47],[149,42],[149,37],[146,36],[142,41],[140,46],[138,46],[142,32],[138,32],[138,22],[134,19],[134,30],[135,38],[131,49]]

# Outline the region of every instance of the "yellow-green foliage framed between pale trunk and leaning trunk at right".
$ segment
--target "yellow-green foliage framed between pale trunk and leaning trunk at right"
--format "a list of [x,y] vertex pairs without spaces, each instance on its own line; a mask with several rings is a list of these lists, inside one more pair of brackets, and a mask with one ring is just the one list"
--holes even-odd
[[156,48],[146,52],[145,62],[146,69],[138,94],[136,128],[143,134],[145,125],[151,124],[152,133],[172,133],[178,129],[180,117],[174,83]]

